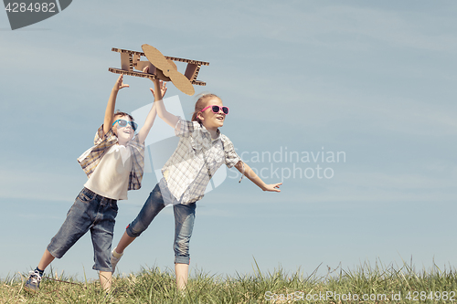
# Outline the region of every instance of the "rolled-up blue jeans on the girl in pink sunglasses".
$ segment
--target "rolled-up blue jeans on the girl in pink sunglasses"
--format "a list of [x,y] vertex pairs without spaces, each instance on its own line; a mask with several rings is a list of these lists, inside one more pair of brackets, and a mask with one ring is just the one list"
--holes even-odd
[[[140,213],[127,226],[127,235],[131,237],[140,236],[154,220],[155,215],[158,215],[164,207],[164,199],[157,183],[143,204]],[[173,246],[175,250],[175,264],[188,265],[190,263],[189,243],[194,228],[196,207],[196,203],[173,205],[173,211],[175,213],[175,243]]]

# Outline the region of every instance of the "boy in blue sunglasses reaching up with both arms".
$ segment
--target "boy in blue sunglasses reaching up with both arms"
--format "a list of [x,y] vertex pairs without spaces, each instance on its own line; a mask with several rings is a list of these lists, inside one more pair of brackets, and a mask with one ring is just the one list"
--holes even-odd
[[[143,179],[144,140],[154,124],[156,110],[153,105],[143,128],[133,138],[136,123],[124,112],[114,113],[119,89],[129,85],[122,83],[122,75],[112,88],[105,110],[103,125],[95,134],[94,146],[84,152],[78,162],[88,175],[88,182],[69,209],[67,218],[56,236],[51,239],[43,257],[34,271],[30,271],[26,288],[39,289],[44,270],[55,257],[63,257],[81,236],[90,230],[95,264],[99,271],[101,288],[109,291],[112,286],[110,261],[112,234],[118,207],[117,201],[127,199],[128,190],[137,190]],[[160,83],[162,96],[165,84]]]

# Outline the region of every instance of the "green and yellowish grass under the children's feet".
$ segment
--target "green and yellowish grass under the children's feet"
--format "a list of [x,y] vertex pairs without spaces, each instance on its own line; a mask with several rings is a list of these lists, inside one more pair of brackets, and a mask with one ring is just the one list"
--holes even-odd
[[[0,282],[0,303],[455,303],[457,272],[433,267],[385,267],[364,263],[352,270],[316,270],[303,276],[282,268],[261,273],[255,263],[251,275],[222,277],[197,271],[184,293],[175,289],[175,276],[158,267],[128,277],[113,278],[112,294],[102,292],[96,280],[76,281],[63,274],[44,278],[39,292],[24,290],[27,274]],[[51,271],[52,273],[52,271]],[[56,279],[60,280],[57,281]],[[66,282],[62,282],[66,281]],[[356,299],[358,298],[358,299]]]

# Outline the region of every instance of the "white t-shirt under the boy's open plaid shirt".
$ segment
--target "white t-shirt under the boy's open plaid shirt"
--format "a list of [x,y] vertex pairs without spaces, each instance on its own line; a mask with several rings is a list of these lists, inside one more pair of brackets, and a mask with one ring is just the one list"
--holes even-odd
[[131,152],[125,146],[114,144],[101,158],[84,186],[96,194],[114,200],[126,200],[129,174],[132,170]]

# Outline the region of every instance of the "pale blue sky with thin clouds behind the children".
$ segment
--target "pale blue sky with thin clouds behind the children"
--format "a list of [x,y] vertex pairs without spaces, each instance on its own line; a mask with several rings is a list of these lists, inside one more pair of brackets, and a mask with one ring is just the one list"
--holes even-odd
[[[0,278],[37,266],[86,181],[76,159],[90,148],[117,79],[108,72],[120,67],[111,48],[144,43],[210,62],[197,93],[222,98],[230,114],[221,131],[266,182],[283,182],[281,194],[262,193],[228,171],[197,204],[192,271],[250,273],[254,258],[262,271],[303,274],[321,263],[325,274],[340,263],[411,257],[418,268],[453,267],[456,13],[453,1],[75,0],[15,31],[0,13]],[[150,80],[125,82],[117,108],[152,102]],[[169,88],[190,119],[195,100]],[[286,161],[286,152],[301,157]],[[318,152],[324,162],[303,159]],[[344,160],[327,162],[337,152]],[[318,178],[318,166],[331,178]],[[114,244],[155,183],[145,173],[143,188],[119,204]],[[119,269],[172,268],[173,236],[166,208]],[[92,264],[87,235],[52,266],[95,278]]]

